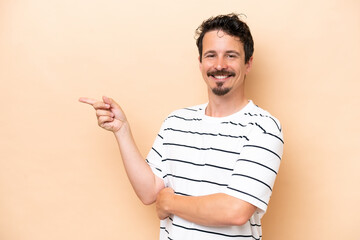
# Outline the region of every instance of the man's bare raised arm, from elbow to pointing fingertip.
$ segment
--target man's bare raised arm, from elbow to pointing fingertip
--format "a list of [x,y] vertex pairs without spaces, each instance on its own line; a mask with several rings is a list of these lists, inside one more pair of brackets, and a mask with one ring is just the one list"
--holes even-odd
[[119,104],[108,97],[103,97],[103,101],[82,97],[79,101],[93,106],[98,125],[114,133],[127,176],[135,193],[144,204],[153,203],[158,192],[164,188],[164,182],[151,171],[141,156]]

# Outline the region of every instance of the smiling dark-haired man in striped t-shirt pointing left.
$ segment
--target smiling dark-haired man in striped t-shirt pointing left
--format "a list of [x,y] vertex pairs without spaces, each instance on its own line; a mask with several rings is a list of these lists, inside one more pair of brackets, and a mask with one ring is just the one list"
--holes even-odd
[[197,29],[209,102],[171,113],[146,159],[111,98],[81,98],[114,132],[129,180],[144,204],[156,202],[160,239],[261,239],[283,150],[277,119],[246,99],[253,40],[237,15]]

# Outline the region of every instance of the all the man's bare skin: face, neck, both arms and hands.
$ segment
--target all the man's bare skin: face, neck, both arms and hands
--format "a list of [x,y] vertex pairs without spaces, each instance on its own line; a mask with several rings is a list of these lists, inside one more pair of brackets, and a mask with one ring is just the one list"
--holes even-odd
[[[251,69],[252,58],[247,63],[244,59],[244,48],[239,39],[222,31],[210,31],[205,34],[202,62],[199,61],[199,67],[208,87],[209,104],[206,115],[228,116],[247,104],[244,80]],[[231,76],[225,74],[225,78],[217,79],[218,71],[231,73]],[[213,92],[214,88],[221,91],[227,88],[228,92],[219,96]],[[80,98],[79,101],[92,105],[96,111],[98,125],[114,133],[126,173],[137,196],[144,204],[156,201],[156,211],[160,219],[174,214],[206,226],[234,226],[246,223],[255,212],[256,207],[250,203],[223,193],[199,197],[174,194],[173,189],[165,188],[163,180],[152,173],[141,156],[126,116],[113,99],[103,97],[102,101],[98,101]]]

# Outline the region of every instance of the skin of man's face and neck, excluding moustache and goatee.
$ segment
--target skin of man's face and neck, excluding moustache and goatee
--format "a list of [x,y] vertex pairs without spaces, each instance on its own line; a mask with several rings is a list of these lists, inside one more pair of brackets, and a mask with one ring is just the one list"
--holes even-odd
[[[222,31],[210,31],[203,38],[202,61],[199,68],[208,88],[209,104],[206,114],[212,117],[224,117],[242,109],[248,102],[245,97],[245,76],[250,72],[253,58],[245,63],[243,44],[238,38]],[[217,80],[208,76],[208,72],[229,71],[235,76]],[[212,89],[222,82],[223,88],[230,88],[224,96],[217,96]]]

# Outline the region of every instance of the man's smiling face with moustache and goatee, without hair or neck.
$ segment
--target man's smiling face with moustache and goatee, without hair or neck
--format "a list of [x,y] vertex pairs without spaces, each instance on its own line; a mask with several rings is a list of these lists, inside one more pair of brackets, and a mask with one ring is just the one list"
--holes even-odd
[[209,94],[228,96],[243,91],[244,78],[251,63],[252,57],[245,64],[244,47],[237,37],[221,30],[205,34],[200,71],[211,90]]

